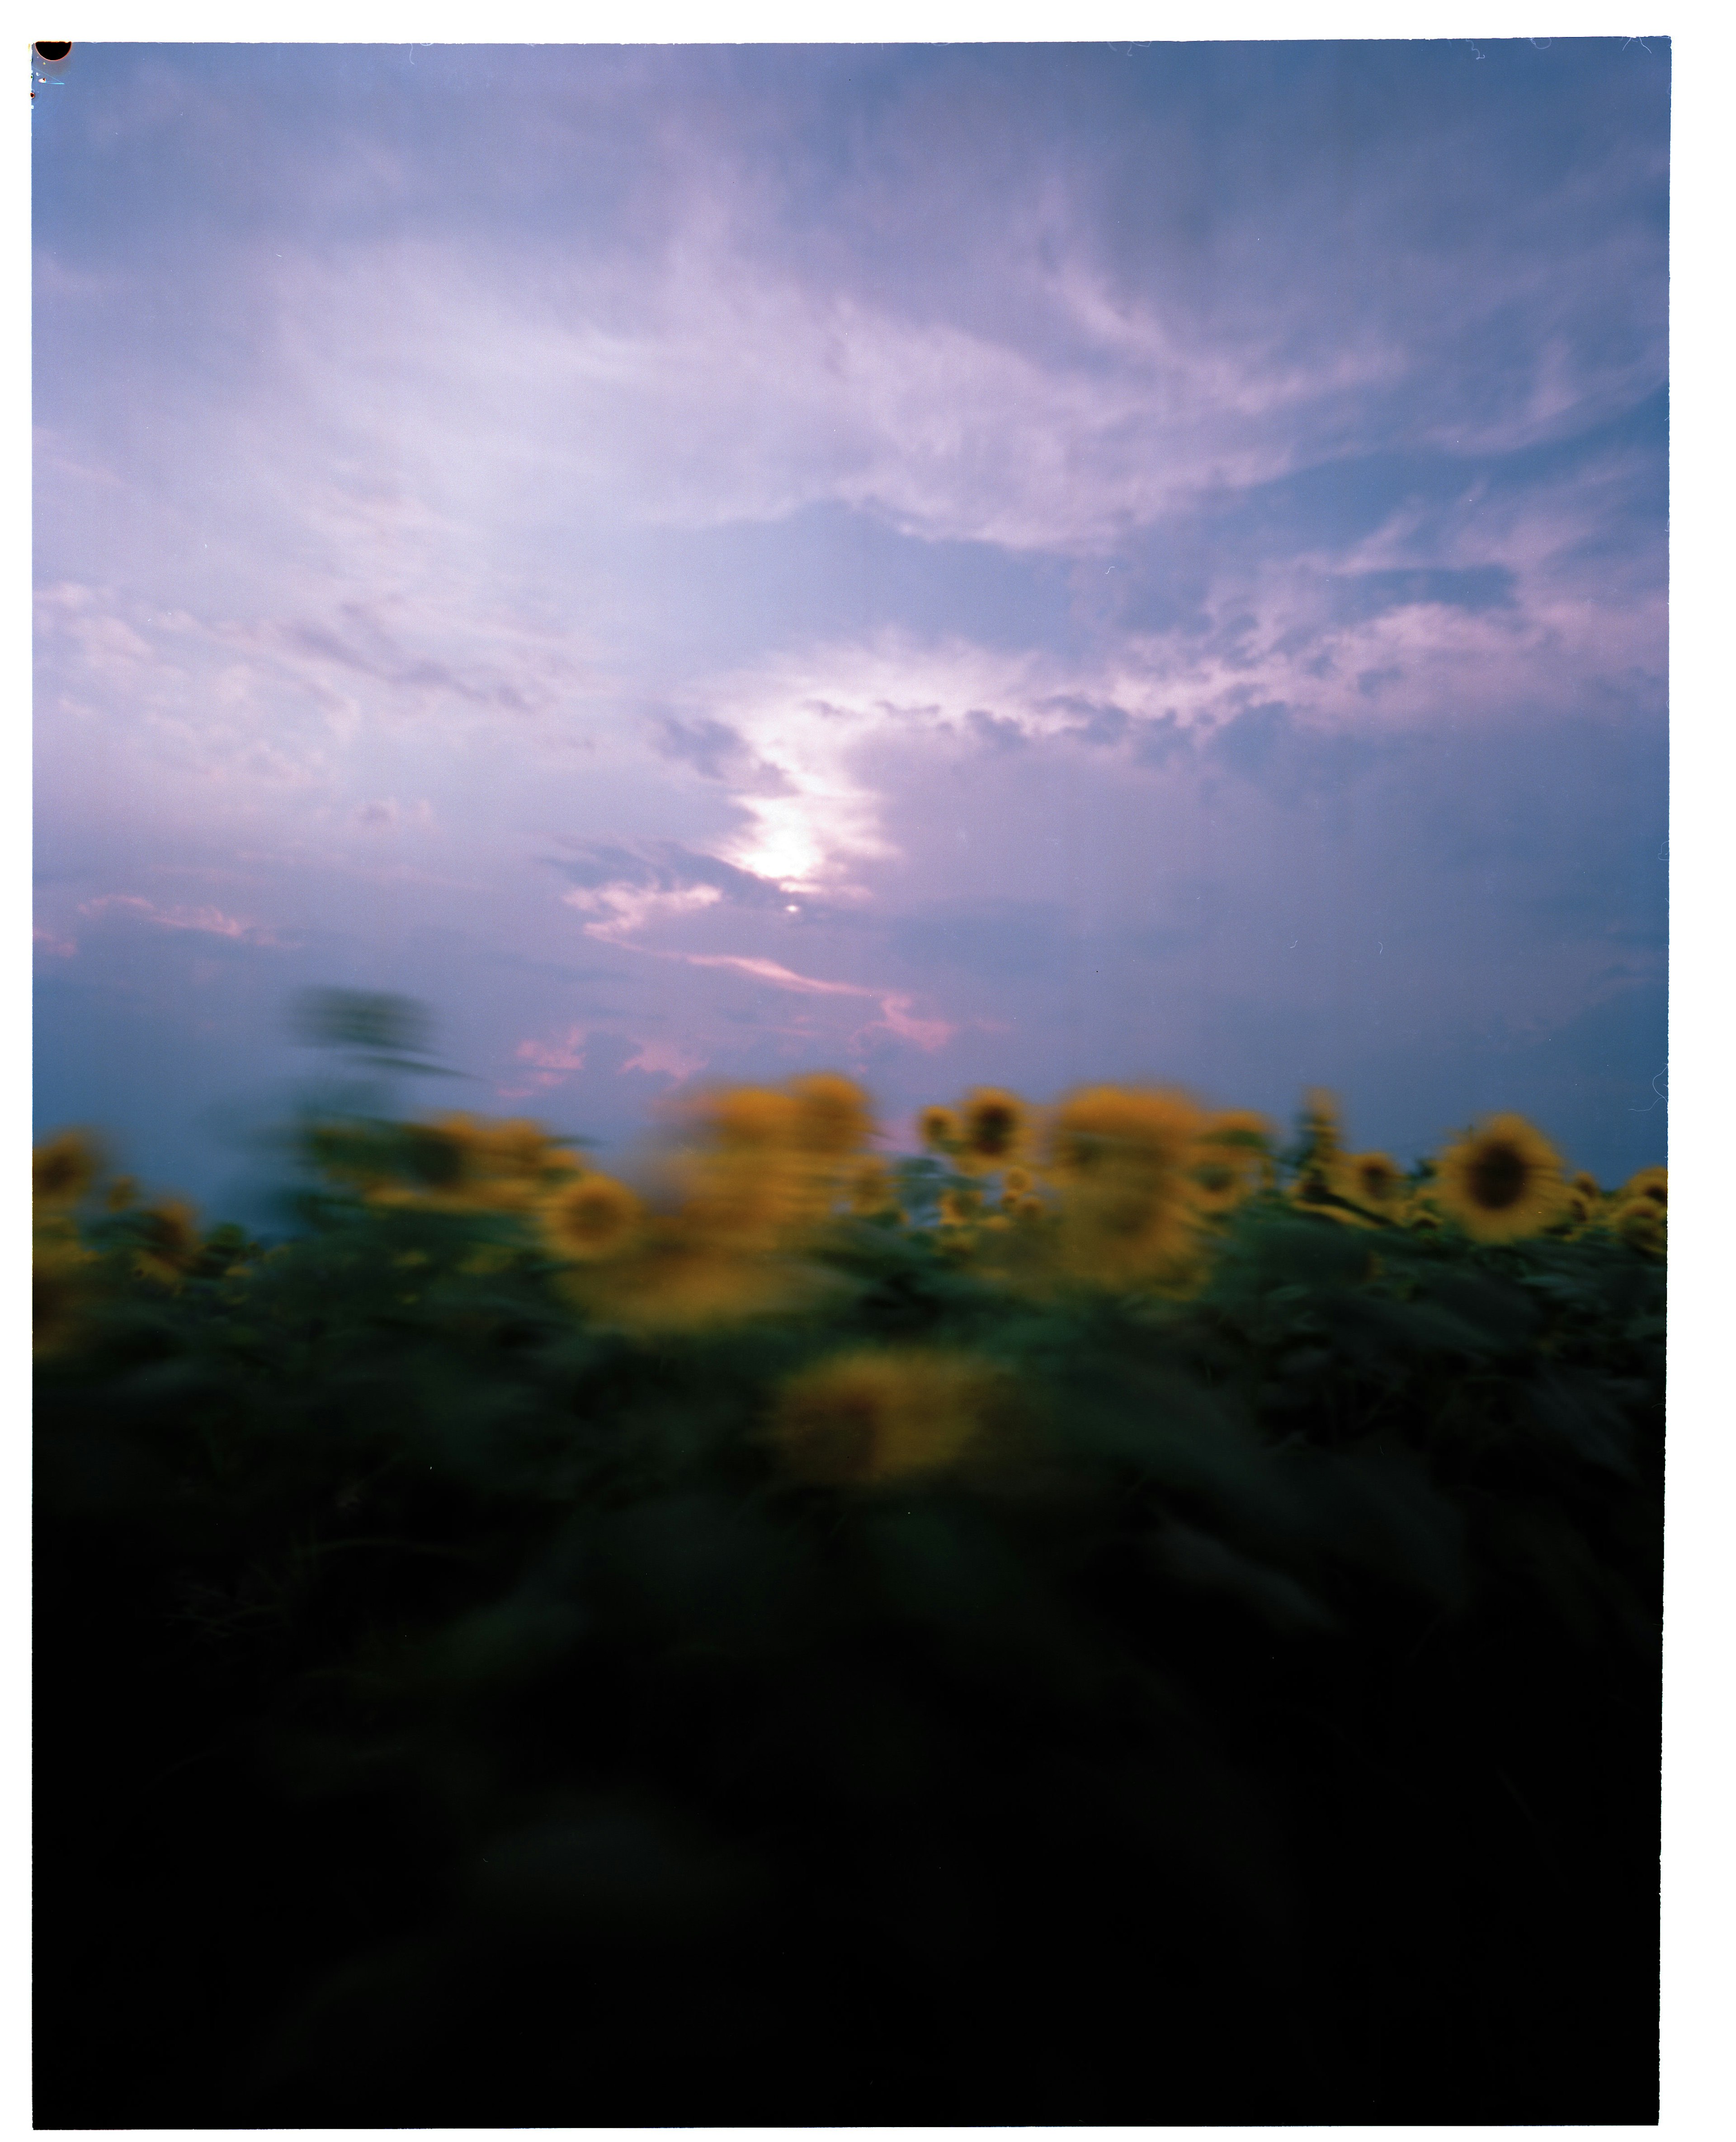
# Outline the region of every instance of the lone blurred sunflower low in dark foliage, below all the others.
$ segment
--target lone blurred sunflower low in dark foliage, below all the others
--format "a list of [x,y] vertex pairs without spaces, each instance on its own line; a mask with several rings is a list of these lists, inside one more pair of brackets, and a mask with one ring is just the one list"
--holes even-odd
[[1002,1375],[931,1347],[839,1354],[779,1392],[771,1442],[805,1480],[871,1487],[955,1465],[993,1427]]

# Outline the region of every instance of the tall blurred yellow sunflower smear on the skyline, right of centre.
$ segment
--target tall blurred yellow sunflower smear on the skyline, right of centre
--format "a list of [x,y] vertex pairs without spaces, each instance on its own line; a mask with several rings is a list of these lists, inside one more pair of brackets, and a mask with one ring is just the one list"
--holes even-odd
[[1205,1118],[1179,1092],[1087,1086],[1049,1125],[1062,1259],[1100,1285],[1162,1281],[1190,1262]]

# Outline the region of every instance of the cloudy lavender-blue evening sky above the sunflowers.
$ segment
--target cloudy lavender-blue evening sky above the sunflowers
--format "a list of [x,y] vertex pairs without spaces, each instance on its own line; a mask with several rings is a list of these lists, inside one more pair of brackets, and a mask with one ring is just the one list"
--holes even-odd
[[835,1067],[1665,1157],[1661,39],[83,43],[36,1125],[308,985],[616,1152]]

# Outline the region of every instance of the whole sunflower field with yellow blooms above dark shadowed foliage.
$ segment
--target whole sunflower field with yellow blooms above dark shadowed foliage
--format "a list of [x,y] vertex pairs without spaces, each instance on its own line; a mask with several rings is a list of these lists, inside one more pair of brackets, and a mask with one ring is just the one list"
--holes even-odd
[[39,1146],[39,2125],[1657,2116],[1665,1172],[916,1135]]

